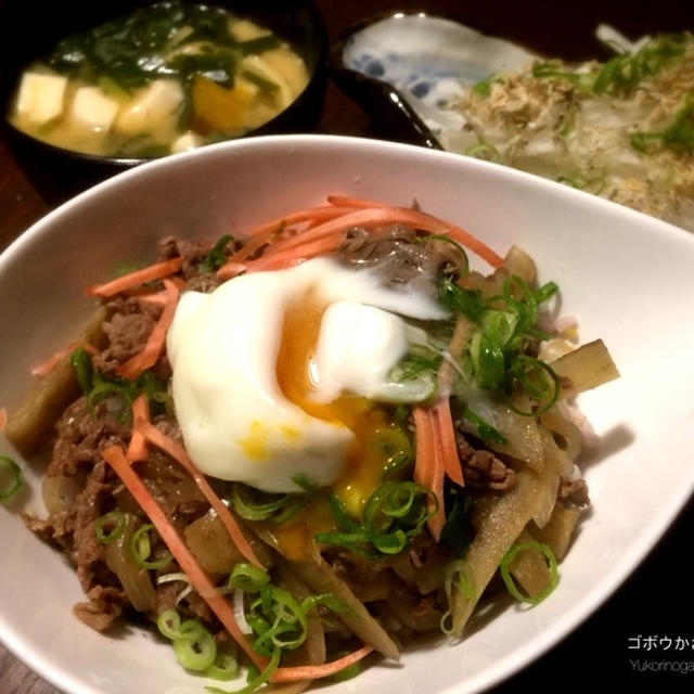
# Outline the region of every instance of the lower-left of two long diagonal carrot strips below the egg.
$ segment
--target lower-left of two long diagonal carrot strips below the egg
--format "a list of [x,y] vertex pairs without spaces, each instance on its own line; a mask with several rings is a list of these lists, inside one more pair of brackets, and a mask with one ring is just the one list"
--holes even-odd
[[229,606],[229,603],[219,594],[217,587],[205,569],[197,563],[193,553],[188,549],[188,545],[166,516],[162,506],[159,506],[143,481],[136,474],[134,470],[130,466],[123,449],[119,446],[110,446],[102,451],[102,455],[111,467],[113,467],[128,491],[134,497],[142,511],[144,511],[150,520],[152,520],[164,543],[178,562],[178,565],[185,573],[198,595],[209,605],[209,608],[217,615],[219,621],[221,621],[233,640],[243,648],[256,667],[261,670],[267,667],[268,659],[258,655],[250,647],[250,644],[239,629],[239,625],[236,625],[234,613]]

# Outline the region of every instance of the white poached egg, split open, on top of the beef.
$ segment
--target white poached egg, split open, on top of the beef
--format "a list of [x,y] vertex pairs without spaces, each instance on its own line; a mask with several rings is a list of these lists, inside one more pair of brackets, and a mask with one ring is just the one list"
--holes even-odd
[[335,485],[387,426],[374,401],[391,399],[388,373],[422,333],[404,318],[446,316],[330,258],[184,293],[167,350],[189,454],[206,475],[268,492],[300,491],[297,475]]

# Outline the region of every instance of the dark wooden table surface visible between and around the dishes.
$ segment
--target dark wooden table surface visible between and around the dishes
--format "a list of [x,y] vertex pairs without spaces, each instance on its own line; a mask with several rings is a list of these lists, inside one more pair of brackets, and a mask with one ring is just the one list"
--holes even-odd
[[[346,27],[374,13],[426,10],[524,43],[547,55],[567,59],[595,54],[593,31],[600,22],[612,24],[631,38],[655,31],[694,29],[694,5],[682,0],[657,3],[633,0],[576,0],[570,3],[537,0],[318,0],[317,3],[333,39]],[[336,134],[380,134],[371,118],[332,85],[327,89],[318,130]],[[40,185],[33,182],[26,167],[0,140],[0,249],[65,198],[65,181],[59,184],[61,172],[55,171],[54,175],[56,183],[53,187],[47,185],[46,180]],[[692,671],[671,676],[663,671],[635,672],[630,665],[634,653],[629,647],[633,645],[633,639],[648,635],[672,640],[681,637],[694,644],[694,596],[689,580],[693,531],[694,504],[690,503],[667,536],[612,600],[558,646],[496,691],[526,692],[535,689],[544,692],[554,687],[568,692],[587,691],[589,687],[603,691],[612,680],[635,686],[637,691],[646,687],[660,687],[665,692],[694,691]],[[669,661],[691,661],[690,667],[694,669],[692,648],[677,655],[660,652],[658,657]],[[0,693],[56,694],[57,691],[0,645]]]

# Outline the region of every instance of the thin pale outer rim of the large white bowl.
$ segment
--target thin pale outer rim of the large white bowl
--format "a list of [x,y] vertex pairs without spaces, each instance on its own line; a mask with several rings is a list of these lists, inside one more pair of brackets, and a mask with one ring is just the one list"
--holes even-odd
[[[25,246],[30,245],[35,240],[40,239],[44,234],[50,234],[54,220],[60,218],[66,211],[73,210],[92,198],[95,200],[102,195],[117,194],[118,189],[121,185],[134,182],[139,177],[149,177],[151,175],[157,176],[157,168],[159,167],[184,167],[187,160],[192,158],[205,158],[208,156],[231,157],[234,151],[240,149],[257,149],[259,151],[265,151],[267,147],[285,147],[286,145],[291,145],[293,147],[320,146],[322,152],[325,152],[331,147],[337,147],[338,150],[357,149],[363,151],[363,156],[373,156],[375,150],[381,150],[386,155],[388,155],[388,153],[400,153],[411,155],[414,158],[440,158],[440,160],[446,159],[450,162],[458,162],[462,167],[468,166],[472,168],[479,168],[483,171],[486,170],[489,174],[493,174],[493,176],[499,179],[500,183],[502,183],[504,179],[525,181],[526,183],[535,187],[554,190],[555,194],[560,197],[568,196],[569,198],[573,197],[578,200],[580,196],[583,196],[583,200],[589,202],[589,204],[597,207],[604,207],[605,209],[611,210],[611,214],[621,215],[625,219],[632,219],[641,224],[646,222],[653,226],[655,231],[660,234],[666,234],[673,239],[678,237],[679,243],[686,243],[689,245],[694,244],[694,236],[691,233],[669,222],[658,220],[643,213],[625,207],[612,201],[597,197],[584,191],[567,188],[561,183],[527,174],[525,171],[501,166],[499,164],[484,162],[472,157],[461,159],[461,155],[451,152],[432,152],[420,146],[382,140],[371,140],[368,138],[332,134],[274,134],[220,142],[192,152],[174,155],[172,157],[162,157],[159,159],[145,163],[142,166],[125,170],[105,181],[102,181],[101,183],[98,183],[50,211],[15,239],[2,252],[2,254],[0,254],[0,273],[2,273],[4,265],[11,262],[13,257],[24,249]],[[229,152],[226,152],[227,150]],[[593,590],[589,599],[581,601],[580,609],[566,614],[563,620],[560,620],[558,624],[555,622],[551,635],[545,640],[545,645],[541,650],[532,647],[531,644],[525,648],[517,650],[515,657],[511,659],[504,658],[503,667],[501,669],[497,668],[499,671],[494,670],[493,677],[481,672],[475,680],[471,680],[471,686],[473,690],[479,691],[509,679],[513,674],[517,673],[522,668],[529,665],[529,663],[535,658],[548,653],[560,641],[564,640],[573,630],[578,628],[591,614],[604,604],[611,595],[615,593],[615,591],[645,560],[647,554],[655,547],[656,542],[664,536],[674,518],[682,511],[693,492],[694,478],[690,485],[682,485],[678,488],[677,493],[673,494],[673,498],[676,499],[674,503],[668,504],[651,520],[647,526],[647,530],[641,534],[639,542],[632,545],[630,551],[625,553],[621,557],[621,561],[611,568],[608,573],[609,580],[603,578],[600,589]],[[24,661],[29,669],[37,672],[40,677],[44,678],[57,689],[74,694],[98,694],[98,689],[91,686],[85,681],[75,680],[67,672],[63,671],[59,664],[52,663],[50,658],[41,653],[41,651],[36,650],[30,643],[24,642],[22,638],[12,632],[5,625],[1,613],[0,641],[4,643],[8,651],[13,653],[20,660]],[[453,685],[444,692],[453,694],[455,691],[457,685]]]

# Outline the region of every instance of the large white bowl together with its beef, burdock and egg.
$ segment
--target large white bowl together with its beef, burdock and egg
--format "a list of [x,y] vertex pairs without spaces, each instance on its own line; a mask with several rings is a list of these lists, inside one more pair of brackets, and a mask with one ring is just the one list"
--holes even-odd
[[0,265],[0,634],[80,693],[509,677],[691,492],[693,256],[589,194],[348,138],[88,191]]

